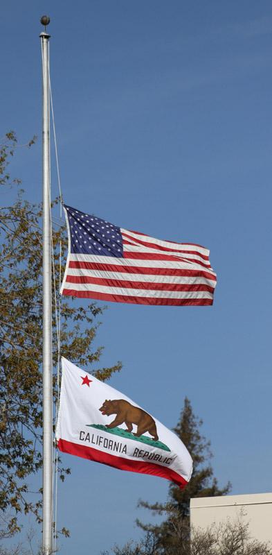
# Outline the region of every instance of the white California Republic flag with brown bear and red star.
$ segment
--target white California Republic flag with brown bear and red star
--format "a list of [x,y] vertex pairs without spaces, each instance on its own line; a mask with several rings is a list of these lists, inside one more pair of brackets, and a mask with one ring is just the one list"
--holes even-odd
[[192,474],[192,458],[176,434],[64,358],[56,437],[64,453],[161,476],[180,488]]

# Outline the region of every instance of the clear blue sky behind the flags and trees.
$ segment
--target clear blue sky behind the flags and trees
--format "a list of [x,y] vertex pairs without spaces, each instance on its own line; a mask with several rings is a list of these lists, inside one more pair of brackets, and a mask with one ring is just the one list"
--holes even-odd
[[[219,485],[271,490],[271,1],[6,2],[1,135],[10,170],[40,200],[39,17],[51,24],[51,80],[64,200],[123,228],[210,248],[213,307],[109,305],[102,364],[111,385],[174,427],[183,398],[203,418]],[[53,195],[57,182],[53,167]],[[10,193],[1,193],[3,204]],[[101,303],[103,304],[103,303]],[[99,554],[139,534],[139,498],[167,481],[64,456],[60,553]],[[26,522],[26,529],[28,523]]]

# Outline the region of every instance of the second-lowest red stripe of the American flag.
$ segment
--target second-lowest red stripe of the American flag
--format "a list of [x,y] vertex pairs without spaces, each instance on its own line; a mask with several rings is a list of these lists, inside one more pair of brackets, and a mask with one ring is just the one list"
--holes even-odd
[[209,291],[213,293],[214,287],[205,284],[179,284],[179,283],[151,283],[151,282],[136,282],[125,280],[113,280],[109,278],[93,278],[89,275],[66,275],[67,283],[92,283],[103,285],[106,287],[124,287],[125,289],[144,289],[152,291]]

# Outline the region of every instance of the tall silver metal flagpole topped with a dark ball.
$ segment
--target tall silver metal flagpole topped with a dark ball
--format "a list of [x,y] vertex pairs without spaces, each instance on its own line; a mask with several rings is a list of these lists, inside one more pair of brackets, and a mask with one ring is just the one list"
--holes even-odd
[[51,195],[50,195],[50,113],[49,113],[49,68],[48,46],[50,35],[46,25],[50,18],[41,18],[44,32],[42,42],[42,166],[43,166],[43,534],[42,553],[52,554],[53,520],[53,461],[52,461],[52,300],[51,300]]

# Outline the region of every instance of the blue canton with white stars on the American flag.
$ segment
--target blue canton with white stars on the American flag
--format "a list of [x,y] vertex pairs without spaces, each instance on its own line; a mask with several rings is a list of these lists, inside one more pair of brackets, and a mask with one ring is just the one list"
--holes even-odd
[[70,206],[65,205],[65,208],[70,228],[71,253],[123,257],[120,228]]

